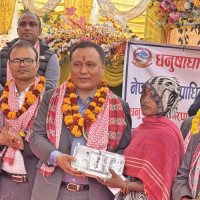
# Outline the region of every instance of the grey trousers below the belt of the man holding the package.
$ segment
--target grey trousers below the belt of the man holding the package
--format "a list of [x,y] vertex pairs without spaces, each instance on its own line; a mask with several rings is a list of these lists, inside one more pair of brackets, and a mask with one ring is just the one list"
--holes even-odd
[[72,192],[61,186],[57,200],[89,200],[89,190]]

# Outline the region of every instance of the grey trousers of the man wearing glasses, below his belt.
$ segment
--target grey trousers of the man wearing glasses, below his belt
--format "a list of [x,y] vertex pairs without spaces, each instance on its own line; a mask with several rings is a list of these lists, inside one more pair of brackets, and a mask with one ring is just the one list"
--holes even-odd
[[31,200],[30,184],[17,183],[0,175],[0,200]]

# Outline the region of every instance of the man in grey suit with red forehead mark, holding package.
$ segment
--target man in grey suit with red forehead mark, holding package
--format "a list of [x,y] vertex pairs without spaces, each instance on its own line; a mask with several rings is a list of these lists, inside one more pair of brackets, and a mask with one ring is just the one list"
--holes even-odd
[[114,199],[106,186],[70,164],[77,145],[122,154],[130,142],[129,106],[102,79],[104,60],[99,45],[75,45],[71,77],[44,95],[30,137],[31,149],[40,159],[32,200]]

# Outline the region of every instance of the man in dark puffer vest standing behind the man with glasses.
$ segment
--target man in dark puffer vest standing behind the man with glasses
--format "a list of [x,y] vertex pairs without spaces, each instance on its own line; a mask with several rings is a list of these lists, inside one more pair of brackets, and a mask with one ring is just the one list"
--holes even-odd
[[59,78],[59,61],[58,57],[49,46],[42,41],[39,36],[42,32],[40,18],[31,12],[22,14],[18,19],[17,33],[19,38],[15,38],[10,42],[7,42],[0,51],[0,86],[5,86],[6,82],[10,78],[9,71],[9,50],[13,44],[20,40],[30,42],[38,52],[38,59],[40,65],[38,68],[38,75],[46,78],[46,89],[52,89],[57,87]]

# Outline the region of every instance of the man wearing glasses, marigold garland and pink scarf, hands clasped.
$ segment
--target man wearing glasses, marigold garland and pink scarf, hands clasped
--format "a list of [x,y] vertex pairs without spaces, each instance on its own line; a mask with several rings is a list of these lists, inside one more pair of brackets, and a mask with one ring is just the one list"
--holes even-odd
[[0,99],[0,199],[30,200],[38,158],[30,149],[29,135],[45,78],[37,75],[36,49],[23,40],[10,49],[9,67],[13,79]]

